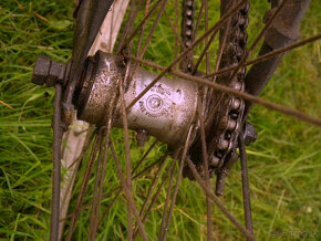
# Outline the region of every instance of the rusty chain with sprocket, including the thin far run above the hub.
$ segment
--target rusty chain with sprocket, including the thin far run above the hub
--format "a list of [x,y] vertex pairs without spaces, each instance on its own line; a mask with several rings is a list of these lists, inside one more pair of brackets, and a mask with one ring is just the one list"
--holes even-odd
[[[193,2],[193,4],[189,2]],[[190,20],[190,17],[194,15],[194,13],[187,13],[187,11],[190,10],[194,11],[194,1],[185,0],[183,3],[183,11],[185,12],[183,12],[182,24],[182,38],[184,44],[189,44],[189,41],[193,41],[193,39],[190,38],[193,36],[193,24],[190,24],[190,22],[193,23],[193,20]],[[237,65],[241,60],[246,51],[248,38],[246,32],[246,29],[248,27],[248,12],[249,3],[246,3],[245,7],[242,7],[235,15],[232,15],[219,69]],[[191,33],[188,32],[188,30],[190,29]],[[226,27],[221,31],[221,38],[225,30]],[[187,61],[190,62],[185,63],[185,65],[183,64],[183,66],[193,66],[190,56]],[[232,87],[238,91],[245,91],[245,67],[240,69],[237,77],[235,77],[234,80],[230,80],[232,73],[220,75],[217,77],[217,83]],[[217,103],[219,103],[218,106]],[[238,158],[238,156],[236,155],[236,140],[238,137],[240,123],[242,120],[245,102],[232,95],[215,92],[208,106],[209,107],[207,114],[210,115],[211,113],[214,113],[211,118],[209,118],[209,123],[206,123],[205,127],[206,133],[209,133],[206,137],[209,157],[209,174],[210,176],[214,176],[214,174],[220,175],[222,172],[227,175],[229,168],[231,167],[231,163],[234,163]],[[198,144],[191,147],[190,159],[196,165],[198,171],[201,175],[205,175],[203,161],[199,160],[199,157],[201,156],[201,148],[199,143],[200,140],[198,140]],[[185,168],[184,176],[188,177],[189,179],[194,179],[189,168]]]

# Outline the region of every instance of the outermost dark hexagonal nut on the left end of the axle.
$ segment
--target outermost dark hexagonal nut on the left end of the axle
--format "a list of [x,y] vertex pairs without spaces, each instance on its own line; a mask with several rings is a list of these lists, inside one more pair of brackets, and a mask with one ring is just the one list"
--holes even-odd
[[33,84],[44,85],[49,75],[51,60],[48,56],[39,55],[33,69],[32,80]]

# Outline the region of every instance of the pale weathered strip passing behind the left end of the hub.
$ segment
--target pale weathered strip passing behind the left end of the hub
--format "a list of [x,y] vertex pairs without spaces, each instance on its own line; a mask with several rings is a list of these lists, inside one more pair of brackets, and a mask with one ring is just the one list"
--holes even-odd
[[[128,0],[114,0],[108,13],[106,14],[100,32],[89,52],[89,55],[94,55],[97,50],[112,52],[116,36],[123,22],[124,14]],[[61,240],[64,223],[68,216],[69,203],[73,186],[81,163],[81,157],[87,147],[87,142],[91,139],[90,124],[76,119],[76,113],[72,115],[71,126],[63,135],[63,151],[62,151],[62,167],[65,169],[62,176],[61,193],[60,193],[60,227],[59,237]]]

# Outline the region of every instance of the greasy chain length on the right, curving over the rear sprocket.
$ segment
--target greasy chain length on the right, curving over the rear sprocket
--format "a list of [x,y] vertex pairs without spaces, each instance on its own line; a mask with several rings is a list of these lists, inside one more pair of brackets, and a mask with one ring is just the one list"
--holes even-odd
[[[237,65],[246,51],[248,12],[249,3],[240,9],[231,19],[230,31],[227,36],[227,46],[222,52],[220,69]],[[234,73],[228,73],[219,76],[217,82],[237,91],[245,91],[245,73],[246,69],[241,67],[234,80],[230,80]],[[225,103],[227,102],[228,106],[225,108]],[[214,155],[209,160],[211,169],[216,169],[217,165],[218,167],[222,167],[224,163],[228,161],[229,158],[235,158],[235,142],[242,119],[245,102],[231,95],[224,95],[221,107],[225,112],[225,117],[218,119],[215,125],[221,132],[216,135],[218,138],[214,139],[210,144],[210,146],[215,147],[215,150],[211,151]]]

